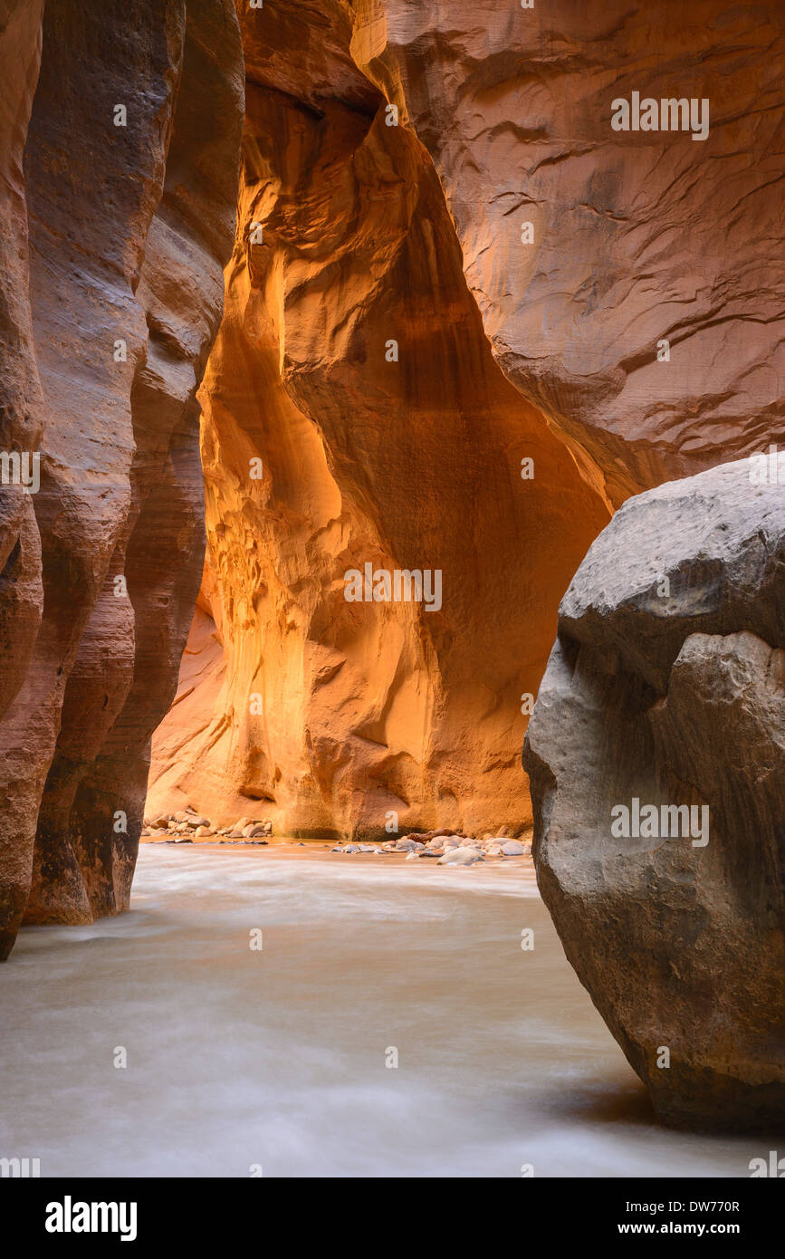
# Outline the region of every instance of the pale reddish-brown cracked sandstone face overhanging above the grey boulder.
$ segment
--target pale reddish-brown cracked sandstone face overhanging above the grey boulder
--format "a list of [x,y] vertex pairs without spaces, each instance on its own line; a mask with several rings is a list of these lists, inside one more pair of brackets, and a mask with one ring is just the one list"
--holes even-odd
[[[497,361],[610,501],[781,436],[782,5],[355,8],[355,59],[433,157]],[[633,92],[706,101],[707,137],[614,130]]]

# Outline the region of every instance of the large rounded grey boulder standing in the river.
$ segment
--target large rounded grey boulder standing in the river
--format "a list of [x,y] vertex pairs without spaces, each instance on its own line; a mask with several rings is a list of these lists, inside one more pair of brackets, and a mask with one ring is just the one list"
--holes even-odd
[[614,516],[523,754],[567,957],[660,1117],[693,1126],[785,1118],[785,502],[750,471]]

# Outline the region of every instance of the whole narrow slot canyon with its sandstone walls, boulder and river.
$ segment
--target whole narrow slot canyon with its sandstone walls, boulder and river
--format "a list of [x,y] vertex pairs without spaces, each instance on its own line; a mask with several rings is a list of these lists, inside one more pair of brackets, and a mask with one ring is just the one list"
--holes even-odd
[[[248,1175],[247,1109],[282,1176],[776,1139],[784,50],[774,0],[0,0],[3,1058],[19,1146],[69,987],[45,1175]],[[137,963],[148,1059],[218,1020],[214,1158],[72,1122],[78,1011],[123,1046]]]

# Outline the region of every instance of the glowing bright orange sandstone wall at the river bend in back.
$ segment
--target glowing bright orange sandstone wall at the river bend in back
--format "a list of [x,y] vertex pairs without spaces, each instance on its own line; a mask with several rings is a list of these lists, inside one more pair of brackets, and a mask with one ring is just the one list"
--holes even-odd
[[[608,509],[493,361],[433,164],[325,11],[318,54],[312,6],[243,18],[238,237],[200,394],[224,685],[205,724],[215,671],[192,689],[186,657],[148,812],[517,828],[522,695]],[[366,563],[438,570],[440,607],[347,602]]]

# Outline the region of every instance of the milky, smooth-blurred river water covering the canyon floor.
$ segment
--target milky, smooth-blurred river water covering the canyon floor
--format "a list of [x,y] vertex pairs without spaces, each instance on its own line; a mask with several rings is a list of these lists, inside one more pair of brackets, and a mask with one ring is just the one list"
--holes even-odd
[[145,845],[131,912],[23,930],[0,1000],[0,1156],[42,1176],[749,1176],[765,1153],[657,1126],[521,862]]

